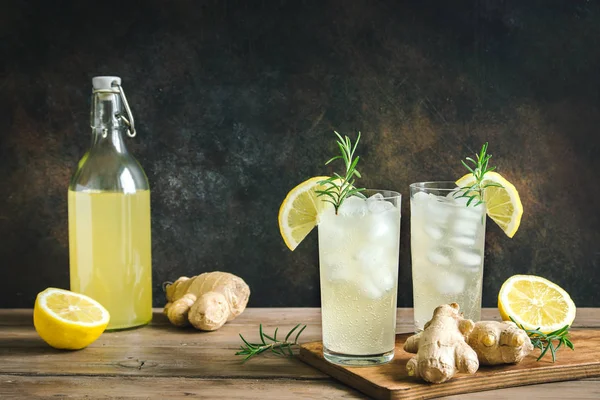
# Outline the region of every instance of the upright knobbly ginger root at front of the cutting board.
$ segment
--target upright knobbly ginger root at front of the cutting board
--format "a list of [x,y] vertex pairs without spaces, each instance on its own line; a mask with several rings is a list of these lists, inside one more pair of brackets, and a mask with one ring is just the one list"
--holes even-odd
[[416,353],[406,364],[408,375],[442,383],[457,372],[474,374],[479,361],[475,350],[466,342],[473,326],[473,321],[459,313],[458,304],[437,307],[425,329],[404,343],[405,351]]

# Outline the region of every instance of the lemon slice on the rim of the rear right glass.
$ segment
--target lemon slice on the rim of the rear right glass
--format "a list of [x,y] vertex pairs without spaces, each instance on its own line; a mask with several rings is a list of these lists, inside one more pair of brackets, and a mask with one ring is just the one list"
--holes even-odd
[[[475,183],[473,174],[467,174],[456,181],[460,187],[471,186]],[[519,192],[512,183],[504,179],[497,172],[487,172],[484,175],[483,185],[486,183],[498,183],[502,187],[490,186],[483,192],[483,201],[487,209],[488,216],[494,220],[496,224],[512,238],[519,225],[521,225],[521,217],[523,216],[523,205]]]

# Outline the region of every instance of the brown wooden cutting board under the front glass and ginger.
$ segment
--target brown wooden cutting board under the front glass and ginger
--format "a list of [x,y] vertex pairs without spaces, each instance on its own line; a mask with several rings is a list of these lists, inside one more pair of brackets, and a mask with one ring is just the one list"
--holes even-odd
[[539,350],[535,349],[519,364],[482,366],[474,375],[458,374],[442,384],[424,383],[407,375],[406,363],[413,354],[405,352],[402,347],[410,335],[396,335],[394,359],[376,367],[342,367],[331,364],[323,358],[322,342],[303,344],[299,357],[307,364],[376,399],[431,399],[600,376],[600,330],[573,330],[571,340],[575,351],[561,348],[555,363],[549,353],[544,359],[536,361]]

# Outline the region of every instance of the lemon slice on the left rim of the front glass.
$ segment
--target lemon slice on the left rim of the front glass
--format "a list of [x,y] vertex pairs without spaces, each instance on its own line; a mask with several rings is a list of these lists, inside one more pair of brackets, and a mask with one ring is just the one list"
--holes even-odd
[[279,231],[292,251],[317,225],[319,213],[329,204],[316,193],[326,188],[319,184],[326,179],[329,177],[317,176],[302,182],[290,190],[279,207]]

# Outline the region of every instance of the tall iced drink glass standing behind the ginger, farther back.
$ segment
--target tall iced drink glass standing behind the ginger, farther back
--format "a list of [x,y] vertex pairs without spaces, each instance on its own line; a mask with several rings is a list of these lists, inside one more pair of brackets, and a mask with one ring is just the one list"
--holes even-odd
[[486,209],[460,195],[454,182],[410,185],[416,331],[440,304],[458,303],[466,318],[481,318]]

